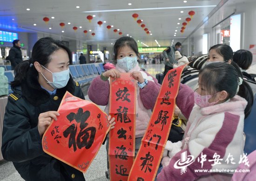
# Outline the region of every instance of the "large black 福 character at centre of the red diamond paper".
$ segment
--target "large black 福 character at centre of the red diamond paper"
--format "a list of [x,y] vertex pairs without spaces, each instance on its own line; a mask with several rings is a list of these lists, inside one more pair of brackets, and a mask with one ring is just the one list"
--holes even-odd
[[[89,149],[94,142],[96,128],[87,127],[88,123],[86,121],[88,120],[89,116],[90,116],[90,112],[89,111],[83,112],[82,108],[79,108],[77,113],[70,113],[67,115],[68,121],[70,122],[72,122],[73,120],[76,121],[76,123],[73,123],[72,125],[67,127],[67,129],[63,132],[63,135],[65,138],[67,138],[69,135],[68,147],[70,148],[73,146],[74,152],[77,149],[76,147],[78,147],[79,149],[81,149],[82,147]],[[76,138],[78,123],[80,123],[80,131]]]

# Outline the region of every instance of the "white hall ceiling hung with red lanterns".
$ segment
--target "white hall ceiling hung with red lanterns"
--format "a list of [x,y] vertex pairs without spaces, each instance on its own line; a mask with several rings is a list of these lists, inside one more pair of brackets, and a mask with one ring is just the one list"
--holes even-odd
[[[57,34],[70,39],[84,40],[90,44],[109,45],[120,37],[118,32],[113,32],[116,28],[120,29],[122,35],[129,34],[149,47],[157,46],[155,40],[161,46],[169,46],[172,40],[174,42],[184,40],[220,2],[220,0],[187,1],[184,3],[183,0],[0,0],[0,29]],[[128,6],[128,3],[132,3],[132,6]],[[27,8],[30,10],[27,11]],[[153,9],[148,10],[148,8]],[[128,11],[123,11],[124,9]],[[103,12],[105,10],[114,11]],[[195,15],[181,34],[182,22],[189,17],[188,12],[191,10],[195,11]],[[136,23],[132,17],[133,13],[139,14],[138,19],[143,20],[142,23],[152,35],[146,34]],[[88,15],[96,15],[96,17],[89,22],[86,18]],[[51,19],[52,16],[55,18]],[[43,21],[44,17],[50,19],[48,25]],[[97,24],[99,20],[107,23],[103,23],[100,27]],[[61,22],[66,24],[63,29],[60,26]],[[71,24],[68,25],[68,22]],[[177,25],[179,22],[181,24]],[[106,28],[108,25],[114,27],[108,30]],[[78,27],[76,33],[72,29],[74,26]],[[80,26],[82,28],[79,28]],[[49,27],[52,29],[50,30]],[[90,29],[92,32],[89,32]],[[84,30],[88,31],[86,36]],[[177,30],[176,36],[174,36],[175,30]],[[95,33],[95,36],[93,37],[91,33]],[[139,47],[143,45],[139,44]]]

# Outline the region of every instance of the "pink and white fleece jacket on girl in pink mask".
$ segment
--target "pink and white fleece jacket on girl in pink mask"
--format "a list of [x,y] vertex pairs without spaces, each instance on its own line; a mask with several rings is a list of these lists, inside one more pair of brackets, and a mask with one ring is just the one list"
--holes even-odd
[[[176,104],[182,114],[189,118],[182,141],[182,150],[175,154],[169,165],[162,169],[157,181],[224,181],[231,180],[232,174],[195,172],[196,169],[222,170],[236,169],[240,155],[243,156],[244,109],[247,101],[236,95],[232,99],[209,107],[198,107],[194,101],[194,91],[181,84]],[[181,174],[181,169],[174,167],[181,159],[181,153],[194,156],[194,162]],[[214,154],[220,155],[221,164],[214,165]],[[206,155],[206,161],[202,161]],[[231,163],[231,159],[232,163]],[[227,161],[228,160],[228,161]],[[233,164],[234,163],[234,164]]]

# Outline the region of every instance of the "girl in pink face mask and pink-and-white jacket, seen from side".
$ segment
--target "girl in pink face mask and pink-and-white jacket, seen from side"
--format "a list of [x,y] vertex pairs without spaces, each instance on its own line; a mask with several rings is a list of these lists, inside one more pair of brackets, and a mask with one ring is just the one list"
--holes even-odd
[[[230,181],[232,173],[214,170],[236,169],[240,155],[243,156],[243,124],[252,106],[253,93],[242,73],[227,63],[212,63],[200,70],[198,84],[196,92],[180,85],[176,104],[188,123],[182,147],[172,150],[176,154],[172,154],[157,181]],[[241,97],[236,95],[239,90],[244,91]],[[172,143],[171,147],[174,146]],[[182,153],[187,161],[183,160],[183,165]],[[186,165],[186,171],[181,174],[177,165]],[[196,172],[197,169],[209,172]]]

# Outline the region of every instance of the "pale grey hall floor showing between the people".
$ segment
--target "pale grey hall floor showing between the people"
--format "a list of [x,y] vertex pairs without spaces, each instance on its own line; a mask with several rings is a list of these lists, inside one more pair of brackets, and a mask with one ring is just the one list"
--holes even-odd
[[[140,65],[141,68],[145,68],[146,71],[155,77],[155,74],[164,71],[163,64],[153,64],[153,65]],[[84,94],[86,95],[86,100],[89,100],[87,95],[87,89],[84,88]],[[104,107],[101,107],[104,110]],[[105,176],[105,171],[107,170],[107,152],[105,145],[101,146],[98,154],[94,158],[94,161],[88,168],[85,175],[86,181],[108,181]],[[20,174],[13,167],[12,162],[0,161],[0,180],[1,181],[24,181]]]

